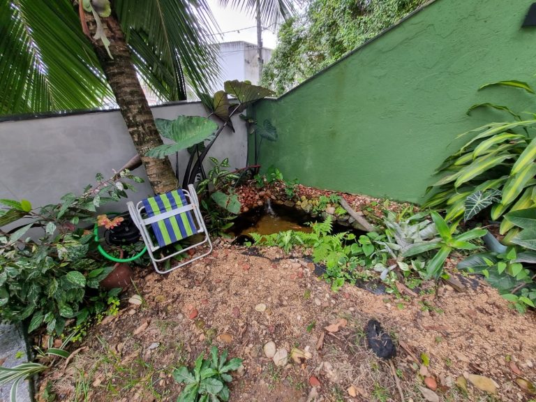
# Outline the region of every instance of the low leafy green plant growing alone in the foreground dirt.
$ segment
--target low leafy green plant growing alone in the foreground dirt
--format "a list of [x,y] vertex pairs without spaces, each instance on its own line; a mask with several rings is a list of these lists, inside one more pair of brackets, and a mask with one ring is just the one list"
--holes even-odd
[[234,357],[227,360],[228,351],[223,350],[218,356],[218,348],[212,346],[210,359],[204,359],[203,354],[195,359],[193,371],[181,366],[173,371],[173,378],[179,383],[186,384],[177,402],[218,402],[229,401],[228,383],[232,381],[231,371],[237,370],[242,359]]

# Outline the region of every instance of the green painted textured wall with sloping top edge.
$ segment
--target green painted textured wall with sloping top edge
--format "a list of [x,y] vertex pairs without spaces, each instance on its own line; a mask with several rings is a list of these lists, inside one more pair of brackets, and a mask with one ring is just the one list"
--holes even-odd
[[[269,119],[277,142],[263,142],[263,169],[337,191],[419,202],[454,137],[517,110],[528,94],[486,82],[536,82],[536,29],[521,28],[532,0],[436,0],[349,57],[253,114]],[[253,140],[250,140],[250,153]],[[252,160],[252,159],[250,159]]]

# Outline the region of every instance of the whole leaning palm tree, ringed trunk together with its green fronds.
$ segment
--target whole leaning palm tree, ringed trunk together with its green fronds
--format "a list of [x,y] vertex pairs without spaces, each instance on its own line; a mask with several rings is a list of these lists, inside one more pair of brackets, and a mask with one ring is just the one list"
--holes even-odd
[[[233,6],[260,10],[265,23],[291,10],[287,0]],[[163,142],[138,77],[167,101],[185,99],[188,85],[209,88],[217,66],[209,6],[81,0],[76,8],[69,0],[0,1],[0,114],[101,107],[113,94],[154,191],[176,188],[168,158],[144,156]]]

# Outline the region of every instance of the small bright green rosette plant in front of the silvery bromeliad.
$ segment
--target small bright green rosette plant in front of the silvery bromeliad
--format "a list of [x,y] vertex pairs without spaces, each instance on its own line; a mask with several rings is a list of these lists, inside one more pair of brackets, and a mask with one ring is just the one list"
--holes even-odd
[[439,241],[433,239],[422,243],[413,244],[402,253],[404,258],[419,255],[427,251],[439,248],[433,258],[426,262],[426,279],[435,278],[438,280],[443,273],[445,260],[453,250],[475,250],[479,248],[476,244],[470,243],[470,240],[479,239],[488,231],[484,229],[472,229],[454,236],[457,225],[447,225],[447,222],[436,211],[430,212],[435,228],[440,235]]

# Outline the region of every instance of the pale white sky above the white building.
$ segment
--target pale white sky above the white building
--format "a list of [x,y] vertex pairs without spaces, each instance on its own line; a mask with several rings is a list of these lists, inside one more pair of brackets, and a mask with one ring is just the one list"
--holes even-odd
[[[257,43],[257,29],[253,15],[248,15],[230,7],[222,8],[218,6],[218,0],[207,0],[207,3],[209,3],[216,22],[218,22],[219,31],[225,32],[223,37],[218,36],[216,38],[216,42],[244,40],[249,43]],[[264,47],[275,49],[276,43],[277,36],[273,31],[267,29],[262,31],[262,45]]]

